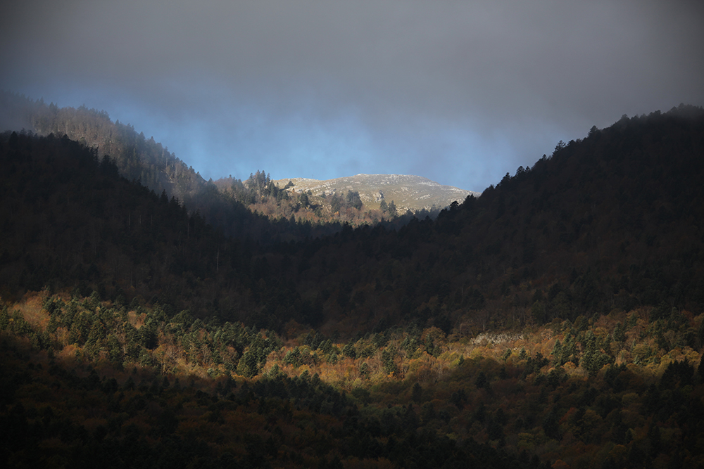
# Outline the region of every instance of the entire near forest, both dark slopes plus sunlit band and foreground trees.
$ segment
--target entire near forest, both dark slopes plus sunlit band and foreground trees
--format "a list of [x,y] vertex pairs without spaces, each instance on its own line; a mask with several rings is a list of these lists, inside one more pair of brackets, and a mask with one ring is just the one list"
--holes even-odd
[[307,239],[101,154],[0,136],[6,465],[704,465],[701,108]]

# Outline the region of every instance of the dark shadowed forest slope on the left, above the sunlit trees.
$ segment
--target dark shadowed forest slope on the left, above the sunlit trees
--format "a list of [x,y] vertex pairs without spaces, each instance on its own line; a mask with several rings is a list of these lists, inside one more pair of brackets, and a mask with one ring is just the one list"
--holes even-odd
[[196,278],[237,264],[230,255],[237,243],[175,198],[127,181],[112,160],[99,161],[80,143],[5,134],[0,162],[6,298],[45,287],[130,299],[188,295]]

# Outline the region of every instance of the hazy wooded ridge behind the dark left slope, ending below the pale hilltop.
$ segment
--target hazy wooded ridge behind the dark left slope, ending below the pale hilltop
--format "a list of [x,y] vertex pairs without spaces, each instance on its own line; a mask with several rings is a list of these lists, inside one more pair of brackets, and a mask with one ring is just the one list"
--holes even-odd
[[[58,108],[54,103],[33,101],[25,96],[8,91],[0,92],[0,129],[24,129],[41,136],[67,136],[73,141],[93,148],[99,158],[108,156],[118,167],[122,176],[139,181],[157,194],[165,193],[187,207],[191,213],[198,212],[209,223],[218,226],[227,235],[238,238],[256,237],[260,242],[276,240],[298,240],[306,236],[325,236],[341,229],[342,224],[376,224],[389,221],[396,215],[379,211],[378,204],[363,203],[364,207],[353,207],[343,200],[342,207],[332,210],[331,200],[301,198],[301,194],[289,200],[288,193],[270,187],[270,178],[257,171],[249,179],[227,178],[205,181],[193,167],[170,153],[168,148],[139,134],[130,124],[113,122],[104,110],[80,108]],[[445,190],[445,193],[451,193]],[[346,194],[342,194],[343,196]],[[427,213],[436,212],[448,205],[453,197],[428,197]],[[400,196],[399,196],[400,197]],[[399,199],[401,200],[401,198]],[[405,199],[404,199],[405,200]],[[437,203],[436,203],[437,202]],[[432,205],[436,203],[436,210]],[[408,207],[424,204],[408,202]],[[340,210],[343,209],[343,210]],[[413,209],[412,209],[413,210]],[[413,210],[417,212],[418,210]],[[401,214],[406,212],[404,205]],[[269,223],[274,221],[274,223]],[[291,222],[289,224],[289,221]],[[308,226],[296,226],[294,223]],[[403,224],[406,218],[396,220]],[[325,227],[320,225],[327,224]]]

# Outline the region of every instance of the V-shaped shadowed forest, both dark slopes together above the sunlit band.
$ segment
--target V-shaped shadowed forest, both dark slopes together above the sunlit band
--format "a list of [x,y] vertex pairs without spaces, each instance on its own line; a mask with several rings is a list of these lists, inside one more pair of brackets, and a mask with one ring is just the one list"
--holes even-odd
[[699,311],[703,135],[700,108],[624,117],[436,220],[277,244],[271,233],[293,224],[257,219],[246,231],[260,238],[231,240],[165,193],[121,179],[96,150],[6,135],[0,269],[8,293],[59,279],[272,328],[296,319],[450,330],[640,305]]

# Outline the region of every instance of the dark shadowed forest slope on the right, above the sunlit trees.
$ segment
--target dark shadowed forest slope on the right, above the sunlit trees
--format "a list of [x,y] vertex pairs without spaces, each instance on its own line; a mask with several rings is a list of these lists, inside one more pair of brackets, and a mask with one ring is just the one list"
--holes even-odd
[[[398,231],[303,248],[298,291],[370,324],[509,324],[704,300],[704,113],[681,106],[591,129],[532,168]],[[303,254],[303,252],[305,254]],[[388,321],[387,321],[388,323]]]

